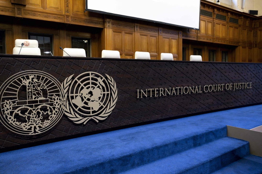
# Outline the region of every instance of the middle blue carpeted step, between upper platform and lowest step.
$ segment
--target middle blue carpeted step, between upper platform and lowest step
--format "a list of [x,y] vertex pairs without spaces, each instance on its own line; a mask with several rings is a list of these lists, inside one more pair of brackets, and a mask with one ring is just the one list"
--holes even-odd
[[163,158],[121,174],[212,173],[249,154],[249,142],[231,137]]

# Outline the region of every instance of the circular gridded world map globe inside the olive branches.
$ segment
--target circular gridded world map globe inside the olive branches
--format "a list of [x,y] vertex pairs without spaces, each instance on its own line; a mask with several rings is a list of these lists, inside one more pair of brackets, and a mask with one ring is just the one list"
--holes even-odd
[[96,115],[108,104],[110,88],[105,77],[96,72],[77,76],[70,86],[69,100],[81,115]]

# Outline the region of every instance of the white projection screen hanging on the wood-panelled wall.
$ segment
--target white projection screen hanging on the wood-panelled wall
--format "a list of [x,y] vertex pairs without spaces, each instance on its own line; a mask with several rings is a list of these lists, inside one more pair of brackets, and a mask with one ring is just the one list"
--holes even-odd
[[86,11],[199,30],[200,0],[86,0]]

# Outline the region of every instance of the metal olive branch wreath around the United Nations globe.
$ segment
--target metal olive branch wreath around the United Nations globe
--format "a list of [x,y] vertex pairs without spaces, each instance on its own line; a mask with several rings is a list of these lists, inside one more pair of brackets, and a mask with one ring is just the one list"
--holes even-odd
[[[74,75],[74,74],[73,74]],[[110,76],[107,76],[108,82],[110,83],[110,88],[111,88],[111,101],[108,103],[107,108],[103,110],[103,112],[98,115],[98,116],[93,116],[93,117],[80,117],[77,113],[75,113],[72,109],[72,107],[69,107],[68,101],[67,101],[67,90],[69,88],[70,83],[72,82],[72,77],[67,77],[64,82],[62,83],[62,89],[64,89],[65,92],[65,101],[66,101],[66,106],[65,106],[65,114],[68,116],[70,120],[72,120],[74,123],[80,124],[83,123],[86,124],[90,119],[94,119],[96,122],[99,120],[105,120],[108,115],[110,115],[116,106],[116,101],[117,101],[117,88],[116,88],[116,82],[114,79]]]

